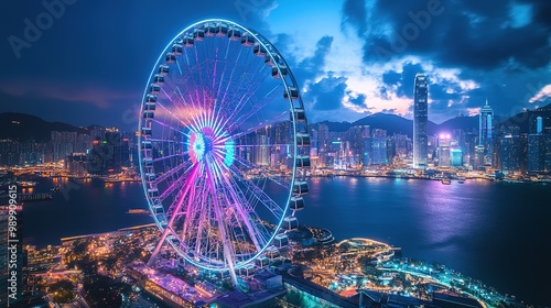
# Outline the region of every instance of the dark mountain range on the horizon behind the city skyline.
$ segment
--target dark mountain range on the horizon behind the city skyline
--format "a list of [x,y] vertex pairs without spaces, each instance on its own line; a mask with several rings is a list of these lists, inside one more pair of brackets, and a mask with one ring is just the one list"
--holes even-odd
[[[516,125],[520,128],[521,133],[527,133],[531,116],[541,116],[544,119],[551,119],[551,103],[536,110],[522,111],[514,117],[496,116],[495,123],[496,125],[501,127]],[[320,123],[326,124],[329,131],[335,132],[344,132],[355,125],[369,125],[371,129],[386,130],[388,135],[400,133],[412,136],[413,134],[412,120],[389,113],[370,114],[355,122],[323,121]],[[548,127],[551,125],[551,123],[545,124]],[[34,139],[36,142],[47,142],[50,141],[51,133],[53,131],[88,133],[90,128],[91,127],[77,128],[62,122],[47,122],[39,117],[26,113],[0,113],[0,139],[11,139],[18,141]],[[440,124],[429,121],[428,125],[429,135],[437,134],[440,132],[452,132],[454,129],[461,129],[463,131],[477,131],[478,116],[458,116]]]

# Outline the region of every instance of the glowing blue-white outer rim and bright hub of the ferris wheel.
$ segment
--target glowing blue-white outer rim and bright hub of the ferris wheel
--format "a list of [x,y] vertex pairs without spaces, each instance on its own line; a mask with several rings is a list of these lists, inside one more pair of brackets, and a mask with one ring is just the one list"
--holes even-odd
[[[251,42],[253,42],[255,44],[258,44],[259,47],[261,51],[263,51],[267,55],[267,57],[270,58],[270,61],[272,62],[273,64],[273,67],[278,70],[277,74],[279,74],[280,76],[283,76],[282,78],[280,78],[281,80],[281,84],[284,88],[284,97],[285,97],[285,100],[288,100],[290,102],[290,112],[291,112],[291,125],[292,125],[292,131],[293,131],[293,138],[292,138],[292,146],[293,146],[293,165],[292,165],[292,174],[291,174],[291,183],[290,183],[290,187],[291,189],[289,190],[289,196],[287,198],[287,202],[284,205],[284,208],[283,208],[283,212],[282,212],[282,217],[281,219],[279,220],[278,222],[278,226],[276,228],[276,231],[271,234],[270,239],[268,240],[268,244],[263,245],[260,250],[258,250],[253,256],[249,257],[248,260],[244,261],[244,262],[240,262],[240,263],[236,263],[235,264],[235,268],[239,268],[239,267],[242,267],[247,264],[249,264],[250,262],[252,262],[253,260],[256,260],[259,255],[261,255],[269,246],[270,244],[273,242],[274,238],[278,235],[278,232],[279,230],[282,229],[282,224],[283,222],[285,221],[287,219],[287,213],[290,211],[290,204],[291,201],[293,200],[293,198],[295,198],[295,196],[300,196],[301,195],[301,190],[300,189],[306,189],[307,188],[301,188],[299,187],[299,193],[296,194],[296,191],[294,191],[294,187],[295,187],[295,176],[296,176],[296,172],[298,172],[298,164],[296,164],[296,158],[299,157],[299,154],[298,154],[298,148],[299,148],[299,144],[298,144],[298,128],[296,128],[296,118],[298,118],[298,111],[302,111],[302,118],[303,118],[303,122],[304,122],[304,127],[305,127],[305,132],[307,133],[307,123],[306,123],[306,119],[304,117],[304,105],[302,102],[302,98],[301,96],[299,95],[296,88],[293,88],[291,86],[294,86],[296,87],[296,81],[289,68],[289,66],[287,65],[284,58],[281,56],[281,54],[276,50],[276,47],[269,43],[269,41],[262,36],[261,34],[259,33],[256,33],[253,32],[252,30],[249,30],[242,25],[239,25],[235,22],[231,22],[231,21],[228,21],[228,20],[222,20],[222,19],[208,19],[208,20],[203,20],[203,21],[199,21],[199,22],[196,22],[190,26],[187,26],[186,29],[184,29],[182,32],[180,32],[176,36],[174,36],[173,40],[171,40],[171,42],[166,45],[166,47],[163,50],[163,52],[161,53],[161,55],[159,56],[155,65],[153,66],[153,69],[150,74],[150,77],[148,79],[148,84],[147,84],[147,87],[145,87],[145,90],[144,90],[144,94],[143,94],[143,103],[141,106],[141,110],[140,110],[140,116],[143,114],[143,112],[147,111],[147,108],[145,108],[145,101],[148,101],[148,96],[150,95],[150,89],[151,89],[151,85],[153,84],[152,81],[154,80],[155,78],[155,73],[158,72],[159,67],[163,64],[163,57],[165,57],[165,55],[170,54],[169,51],[171,48],[171,46],[173,46],[174,42],[176,42],[179,38],[181,40],[182,37],[187,37],[190,35],[190,33],[192,31],[195,31],[195,30],[208,30],[209,26],[212,25],[216,25],[216,26],[227,26],[226,30],[231,30],[231,29],[237,29],[239,31],[242,31],[242,33],[240,34],[239,38],[241,38],[245,34],[247,36],[250,36],[251,37]],[[224,34],[226,35],[226,34]],[[229,35],[228,35],[229,36]],[[206,38],[206,37],[203,37],[203,38]],[[230,37],[231,38],[231,37]],[[288,78],[285,78],[288,77]],[[294,101],[293,101],[294,100]],[[295,103],[298,103],[299,107],[295,107]],[[140,133],[142,132],[143,130],[143,123],[144,123],[144,118],[140,117],[140,121],[139,121],[139,129],[140,129]],[[207,143],[207,139],[206,139],[206,133],[203,131],[204,128],[195,128],[194,130],[192,130],[192,133],[191,133],[191,140],[193,140],[192,142],[190,142],[188,146],[190,146],[190,156],[191,156],[191,160],[194,164],[197,164],[198,162],[202,162],[203,158],[205,157],[205,151],[206,151],[206,143]],[[216,131],[216,129],[215,129]],[[151,133],[151,131],[150,131]],[[225,133],[225,132],[224,132]],[[145,173],[144,173],[144,154],[142,153],[142,148],[144,146],[144,136],[143,135],[140,135],[140,139],[139,139],[139,151],[138,151],[138,154],[139,154],[139,160],[140,160],[140,173],[142,175],[142,184],[143,184],[143,187],[144,187],[144,194],[147,196],[147,199],[148,199],[148,202],[150,204],[150,210],[152,211],[153,213],[153,218],[155,220],[155,223],[158,224],[158,227],[160,228],[161,231],[166,231],[169,228],[166,226],[164,226],[164,222],[161,221],[161,218],[164,218],[166,219],[166,216],[164,217],[161,217],[161,216],[156,216],[154,210],[153,210],[153,202],[154,200],[152,200],[152,197],[150,196],[150,191],[148,190],[148,180],[147,180],[147,176],[145,176]],[[302,139],[301,139],[302,140]],[[145,155],[147,156],[147,155]],[[225,158],[228,158],[227,156]],[[231,160],[233,157],[230,157]],[[301,161],[302,162],[302,161]],[[231,163],[227,163],[226,165],[231,165]],[[303,163],[301,163],[301,165],[303,165]],[[310,161],[307,162],[307,165],[310,165]],[[302,184],[301,184],[302,185]],[[304,190],[304,191],[306,191]],[[303,204],[302,204],[303,205]],[[294,217],[294,212],[295,212],[296,209],[293,209],[292,210],[292,217]],[[164,211],[164,208],[163,208],[163,211]],[[163,212],[164,215],[164,212]],[[289,221],[288,221],[289,222]],[[291,222],[289,222],[291,223]],[[164,227],[163,227],[164,226]],[[222,231],[220,231],[222,232]],[[173,237],[174,238],[174,237]],[[199,266],[202,268],[207,268],[207,270],[210,270],[210,271],[227,271],[228,267],[227,265],[224,265],[222,264],[222,266],[205,266],[204,263],[201,263],[199,261],[197,261],[196,258],[194,257],[191,257],[188,254],[185,254],[185,253],[182,253],[181,252],[181,246],[182,246],[182,243],[179,243],[176,241],[174,241],[174,239],[170,240],[170,238],[166,238],[166,242],[176,251],[179,252],[179,254],[181,256],[183,256],[186,261],[188,261],[190,263],[196,265],[196,266]],[[210,264],[212,265],[212,264]]]

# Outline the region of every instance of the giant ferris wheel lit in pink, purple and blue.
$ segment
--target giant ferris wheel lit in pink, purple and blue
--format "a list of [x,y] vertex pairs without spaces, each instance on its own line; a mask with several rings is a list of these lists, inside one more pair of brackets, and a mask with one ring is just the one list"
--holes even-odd
[[[166,45],[140,111],[144,194],[163,243],[209,271],[264,266],[304,208],[310,135],[299,86],[261,34],[227,20]],[[253,261],[257,262],[253,262]],[[260,261],[260,262],[259,262]]]

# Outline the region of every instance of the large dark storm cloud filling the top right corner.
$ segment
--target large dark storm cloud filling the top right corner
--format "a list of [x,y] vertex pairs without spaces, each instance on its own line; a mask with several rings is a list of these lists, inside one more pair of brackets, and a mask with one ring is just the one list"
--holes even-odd
[[[364,62],[418,55],[447,67],[493,69],[511,59],[530,68],[544,67],[551,61],[549,21],[536,14],[539,22],[530,23],[529,11],[549,12],[549,4],[523,2],[532,3],[509,8],[491,1],[377,1],[368,22],[383,26],[364,38]],[[431,3],[440,3],[434,7],[440,10],[430,10]],[[356,25],[349,22],[355,16],[346,13],[343,22]]]

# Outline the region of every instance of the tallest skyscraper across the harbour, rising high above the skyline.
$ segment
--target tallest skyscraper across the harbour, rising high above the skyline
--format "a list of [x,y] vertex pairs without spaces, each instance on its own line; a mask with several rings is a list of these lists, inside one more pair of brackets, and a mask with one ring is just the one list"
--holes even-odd
[[429,89],[426,87],[426,76],[424,74],[415,75],[413,86],[413,167],[426,167],[428,148],[428,103]]

